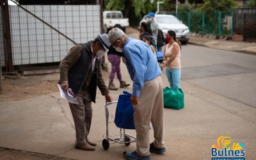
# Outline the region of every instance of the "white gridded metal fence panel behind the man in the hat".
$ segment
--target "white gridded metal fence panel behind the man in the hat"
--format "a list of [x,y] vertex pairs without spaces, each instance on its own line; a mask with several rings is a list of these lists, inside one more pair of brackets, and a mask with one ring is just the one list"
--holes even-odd
[[[54,29],[19,6],[9,6],[13,65],[61,61],[74,42],[77,44],[88,42],[101,33],[100,5],[24,5],[22,7]],[[0,34],[3,34],[1,28]],[[1,39],[0,57],[1,66],[4,66]]]

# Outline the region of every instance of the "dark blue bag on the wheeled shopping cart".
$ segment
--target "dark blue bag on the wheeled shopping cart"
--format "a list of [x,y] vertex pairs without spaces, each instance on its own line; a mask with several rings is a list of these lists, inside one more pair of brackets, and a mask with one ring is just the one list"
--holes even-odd
[[118,97],[114,122],[116,127],[122,129],[135,129],[131,93],[126,91],[123,93],[123,95],[119,95]]

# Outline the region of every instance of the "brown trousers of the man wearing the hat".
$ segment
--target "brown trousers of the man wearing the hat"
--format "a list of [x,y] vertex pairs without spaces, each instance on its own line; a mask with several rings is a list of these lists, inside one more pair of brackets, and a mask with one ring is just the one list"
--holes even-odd
[[69,103],[76,128],[76,145],[85,145],[92,123],[92,100],[90,91],[85,90],[77,94],[79,104]]

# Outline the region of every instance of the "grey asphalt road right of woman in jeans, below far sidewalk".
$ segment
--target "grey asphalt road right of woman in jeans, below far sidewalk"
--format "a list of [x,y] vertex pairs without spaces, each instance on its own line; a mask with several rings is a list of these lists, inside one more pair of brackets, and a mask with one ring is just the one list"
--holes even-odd
[[183,81],[256,108],[256,56],[182,45],[181,61]]

